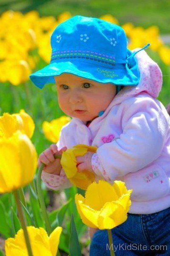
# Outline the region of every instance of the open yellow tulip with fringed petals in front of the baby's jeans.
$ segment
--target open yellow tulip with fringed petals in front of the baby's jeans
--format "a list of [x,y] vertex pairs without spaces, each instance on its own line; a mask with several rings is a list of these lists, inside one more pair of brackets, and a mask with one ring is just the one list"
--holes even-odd
[[84,224],[101,230],[112,229],[126,221],[131,193],[120,180],[113,185],[99,180],[88,186],[85,197],[76,194],[75,203]]

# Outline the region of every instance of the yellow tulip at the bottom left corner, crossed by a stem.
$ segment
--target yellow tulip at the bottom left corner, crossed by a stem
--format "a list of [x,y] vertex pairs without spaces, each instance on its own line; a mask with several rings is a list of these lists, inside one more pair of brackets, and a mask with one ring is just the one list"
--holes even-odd
[[[56,256],[62,227],[56,227],[50,236],[40,227],[27,227],[34,256]],[[5,242],[6,256],[28,256],[23,230],[20,229],[14,238]]]

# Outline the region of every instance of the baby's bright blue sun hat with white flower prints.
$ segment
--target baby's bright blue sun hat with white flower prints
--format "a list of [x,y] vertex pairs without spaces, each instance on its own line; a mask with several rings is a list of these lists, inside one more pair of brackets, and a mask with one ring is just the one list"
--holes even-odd
[[63,73],[113,83],[119,89],[121,85],[139,83],[136,52],[127,49],[127,37],[120,26],[98,18],[74,16],[56,27],[51,47],[50,64],[30,76],[39,88],[55,83],[54,76]]

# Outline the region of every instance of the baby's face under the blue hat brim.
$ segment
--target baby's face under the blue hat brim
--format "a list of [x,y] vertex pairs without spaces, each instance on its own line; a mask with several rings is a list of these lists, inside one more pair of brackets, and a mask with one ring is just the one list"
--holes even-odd
[[63,73],[55,76],[58,103],[68,116],[90,121],[105,111],[116,94],[116,86]]

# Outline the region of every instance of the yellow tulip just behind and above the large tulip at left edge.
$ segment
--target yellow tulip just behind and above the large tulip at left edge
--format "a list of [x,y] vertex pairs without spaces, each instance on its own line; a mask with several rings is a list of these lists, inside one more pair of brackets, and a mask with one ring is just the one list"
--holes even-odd
[[20,130],[31,138],[34,129],[35,124],[31,116],[24,110],[20,110],[20,113],[12,115],[4,113],[3,116],[0,116],[0,137],[9,138],[15,131]]

